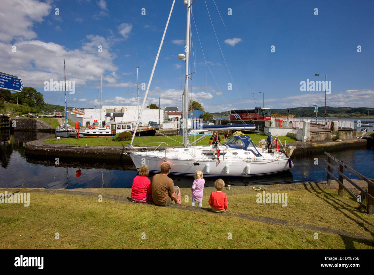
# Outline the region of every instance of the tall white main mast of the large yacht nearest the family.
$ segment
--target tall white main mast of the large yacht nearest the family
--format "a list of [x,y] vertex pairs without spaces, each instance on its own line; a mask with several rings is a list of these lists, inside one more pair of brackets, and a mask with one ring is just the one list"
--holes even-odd
[[187,3],[187,24],[186,24],[186,62],[185,62],[185,76],[184,76],[184,97],[183,97],[183,147],[188,146],[188,130],[187,130],[187,117],[188,117],[188,59],[190,56],[190,21],[191,21],[191,0],[184,0]]

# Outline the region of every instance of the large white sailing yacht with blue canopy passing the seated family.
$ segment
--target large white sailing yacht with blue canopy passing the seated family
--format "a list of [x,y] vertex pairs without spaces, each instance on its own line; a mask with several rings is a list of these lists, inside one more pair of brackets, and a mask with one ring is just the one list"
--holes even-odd
[[[191,0],[184,0],[184,4],[187,5],[185,48],[188,49],[190,39]],[[169,19],[172,9],[169,14]],[[147,91],[145,93],[145,98],[141,107],[136,128],[139,125],[141,112],[144,109],[145,99],[147,97],[147,93],[153,77],[153,72],[157,64],[157,59],[159,57],[169,19],[166,23],[165,31],[159,47],[159,52],[157,53],[151,77],[148,82]],[[183,97],[184,123],[182,123],[181,125],[181,127],[183,128],[183,147],[166,148],[165,150],[154,151],[148,151],[144,150],[144,148],[141,148],[140,151],[140,148],[132,146],[132,142],[134,140],[133,136],[133,139],[131,140],[131,148],[133,149],[133,152],[129,152],[127,154],[131,157],[138,170],[140,169],[141,165],[145,164],[148,166],[150,172],[157,173],[160,172],[160,166],[163,164],[163,162],[168,162],[171,166],[171,174],[194,175],[195,171],[197,169],[200,169],[203,171],[204,177],[248,177],[274,174],[289,170],[294,166],[290,158],[293,150],[288,150],[288,154],[278,151],[270,153],[265,148],[265,146],[255,146],[248,135],[233,136],[226,143],[220,144],[218,146],[218,150],[212,144],[194,146],[194,144],[196,144],[206,135],[189,144],[188,128],[191,127],[190,121],[187,120],[188,79],[190,77],[190,74],[188,72],[189,51],[186,51],[186,55],[178,55],[178,58],[185,61],[185,85]],[[225,125],[224,127],[221,125],[213,126],[215,127],[212,128],[215,128],[217,130],[230,129],[230,127],[232,127],[232,129],[254,129],[254,125]],[[207,128],[208,127],[204,127],[203,129]],[[214,150],[217,150],[217,152],[213,152]],[[216,154],[219,158],[214,158],[214,155]]]

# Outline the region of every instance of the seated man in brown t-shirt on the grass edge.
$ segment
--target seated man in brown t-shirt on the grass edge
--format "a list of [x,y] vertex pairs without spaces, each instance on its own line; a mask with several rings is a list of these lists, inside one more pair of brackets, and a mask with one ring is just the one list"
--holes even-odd
[[164,162],[161,165],[161,174],[154,175],[152,178],[152,198],[156,205],[168,206],[173,201],[181,204],[181,192],[178,186],[168,177],[170,173],[170,164]]

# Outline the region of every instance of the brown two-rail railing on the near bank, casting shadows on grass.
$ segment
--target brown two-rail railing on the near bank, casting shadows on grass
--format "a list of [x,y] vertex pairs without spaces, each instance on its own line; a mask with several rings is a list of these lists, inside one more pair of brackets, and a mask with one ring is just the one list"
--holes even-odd
[[[367,177],[364,177],[361,175],[359,172],[353,170],[350,168],[348,165],[344,164],[342,161],[339,161],[338,159],[334,158],[331,156],[329,153],[325,152],[325,155],[327,155],[327,161],[324,160],[327,163],[327,169],[325,171],[327,172],[327,180],[326,184],[331,185],[331,180],[330,177],[332,177],[334,180],[337,181],[339,184],[339,189],[338,189],[338,195],[343,196],[343,189],[349,193],[357,202],[364,208],[366,209],[368,214],[374,214],[374,181],[373,179],[369,179]],[[339,164],[339,169],[336,168],[334,165],[331,164],[331,160],[337,162]],[[352,172],[362,180],[366,181],[368,183],[368,190],[365,191],[361,186],[356,184],[353,180],[351,180],[347,175],[344,175],[343,169],[346,168],[349,172]],[[331,169],[333,169],[335,172],[339,174],[339,179],[332,174]],[[347,180],[350,184],[355,186],[358,190],[361,191],[360,197],[354,195],[343,183],[343,179]],[[364,196],[367,198],[367,203],[366,205],[363,203],[364,201]]]

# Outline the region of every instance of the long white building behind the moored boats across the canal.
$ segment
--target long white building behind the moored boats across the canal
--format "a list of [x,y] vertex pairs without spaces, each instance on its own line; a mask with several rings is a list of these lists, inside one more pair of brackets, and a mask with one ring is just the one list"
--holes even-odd
[[[101,116],[100,109],[77,109],[73,108],[68,111],[68,119],[73,122],[80,122],[83,126],[92,124],[97,120],[105,123],[111,121],[137,122],[138,110],[137,106],[102,106]],[[113,116],[111,114],[113,113]],[[161,125],[164,121],[164,110],[160,109],[144,109],[140,120],[143,124],[149,121],[155,121]],[[104,125],[105,125],[104,123]]]

